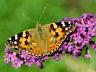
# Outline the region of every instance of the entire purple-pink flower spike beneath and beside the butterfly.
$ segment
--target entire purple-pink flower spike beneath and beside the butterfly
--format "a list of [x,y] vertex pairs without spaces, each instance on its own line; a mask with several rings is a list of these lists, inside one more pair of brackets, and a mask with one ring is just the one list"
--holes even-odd
[[[37,67],[42,68],[42,62],[46,61],[48,57],[52,57],[55,60],[59,60],[60,54],[70,54],[74,58],[78,56],[91,58],[88,48],[85,48],[87,44],[96,52],[96,42],[91,41],[93,36],[96,36],[96,15],[83,14],[79,18],[64,18],[61,21],[70,21],[76,28],[70,33],[63,41],[59,49],[52,55],[34,56],[29,54],[26,50],[21,50],[20,53],[12,51],[10,48],[5,48],[5,63],[11,62],[15,68],[21,67],[22,64],[31,67],[35,64]],[[61,22],[60,21],[60,22]],[[83,51],[85,50],[85,53]]]

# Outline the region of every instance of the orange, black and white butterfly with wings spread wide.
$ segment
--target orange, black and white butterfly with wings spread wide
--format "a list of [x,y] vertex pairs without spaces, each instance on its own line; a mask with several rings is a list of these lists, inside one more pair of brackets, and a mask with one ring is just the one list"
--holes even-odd
[[22,31],[10,37],[5,45],[11,51],[20,53],[26,50],[34,56],[51,55],[57,51],[68,34],[75,30],[75,25],[70,21],[59,21],[36,28]]

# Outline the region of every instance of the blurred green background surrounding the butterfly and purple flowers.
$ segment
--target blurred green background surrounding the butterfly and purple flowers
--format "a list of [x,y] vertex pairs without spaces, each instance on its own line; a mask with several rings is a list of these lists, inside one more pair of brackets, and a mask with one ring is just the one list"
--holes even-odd
[[82,13],[96,13],[96,0],[0,0],[0,72],[96,72],[96,57],[74,60],[63,55],[60,61],[49,59],[44,68],[23,65],[19,69],[5,64],[4,43],[12,35],[36,26],[61,20],[63,17],[79,17]]

